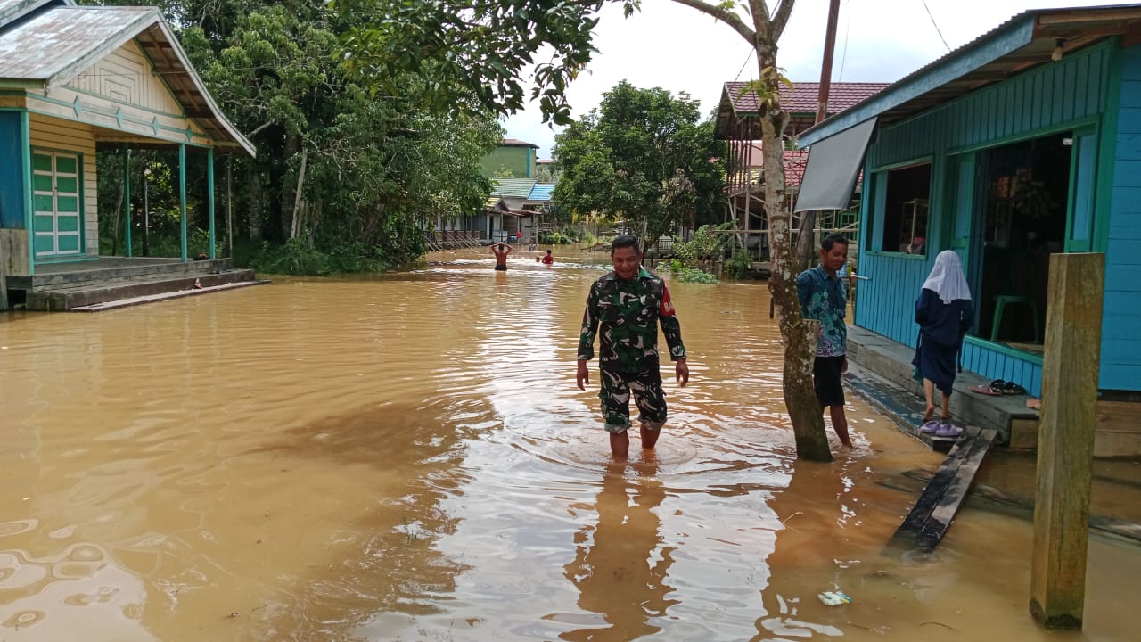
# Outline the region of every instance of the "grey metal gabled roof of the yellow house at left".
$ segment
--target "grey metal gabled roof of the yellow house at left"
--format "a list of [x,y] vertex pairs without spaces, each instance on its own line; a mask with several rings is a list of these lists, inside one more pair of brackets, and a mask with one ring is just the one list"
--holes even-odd
[[[0,0],[14,10],[19,0]],[[50,91],[135,40],[188,118],[219,145],[253,145],[226,119],[154,7],[42,7],[0,30],[0,79]]]

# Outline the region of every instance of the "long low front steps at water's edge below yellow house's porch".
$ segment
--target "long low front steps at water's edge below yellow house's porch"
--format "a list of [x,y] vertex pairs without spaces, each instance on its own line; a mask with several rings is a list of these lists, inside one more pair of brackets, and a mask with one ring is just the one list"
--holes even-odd
[[50,290],[34,290],[27,294],[27,310],[64,312],[79,307],[90,307],[108,302],[133,299],[177,291],[195,290],[256,280],[252,270],[228,272],[175,272],[152,273],[105,281],[84,281],[71,287]]

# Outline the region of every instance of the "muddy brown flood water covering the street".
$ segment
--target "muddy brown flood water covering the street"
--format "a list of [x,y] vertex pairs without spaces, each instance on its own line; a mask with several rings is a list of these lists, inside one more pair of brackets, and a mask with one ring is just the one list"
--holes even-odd
[[760,282],[671,283],[690,384],[612,464],[605,256],[556,256],[0,316],[0,641],[1138,639],[1123,540],[1075,634],[1027,615],[1021,516],[885,552],[941,456],[849,394],[855,450],[795,462]]

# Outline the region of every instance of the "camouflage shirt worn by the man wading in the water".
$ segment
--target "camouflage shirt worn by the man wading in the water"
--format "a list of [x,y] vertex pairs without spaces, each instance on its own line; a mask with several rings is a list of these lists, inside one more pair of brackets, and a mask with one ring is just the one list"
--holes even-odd
[[622,372],[656,369],[658,323],[670,346],[670,360],[685,359],[681,323],[674,314],[665,281],[644,267],[629,281],[608,272],[590,287],[586,312],[582,315],[578,359],[594,356],[594,335],[601,326],[600,368]]

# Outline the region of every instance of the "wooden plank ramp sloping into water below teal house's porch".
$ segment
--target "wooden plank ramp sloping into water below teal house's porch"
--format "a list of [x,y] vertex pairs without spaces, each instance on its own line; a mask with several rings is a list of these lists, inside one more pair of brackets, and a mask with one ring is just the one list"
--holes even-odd
[[974,481],[997,431],[970,426],[950,449],[931,483],[923,490],[904,523],[891,538],[897,548],[931,552],[942,541],[950,522]]

